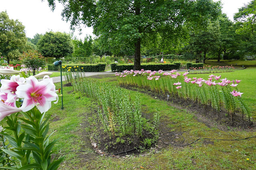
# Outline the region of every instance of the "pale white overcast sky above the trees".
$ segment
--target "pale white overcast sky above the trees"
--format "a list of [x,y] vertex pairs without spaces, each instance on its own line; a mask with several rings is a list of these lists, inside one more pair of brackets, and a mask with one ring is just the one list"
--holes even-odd
[[[238,12],[238,8],[250,1],[222,0],[222,11],[233,21],[233,15]],[[36,33],[44,34],[50,30],[70,33],[70,24],[63,21],[60,15],[62,8],[62,5],[57,3],[54,12],[52,12],[47,0],[44,2],[41,0],[0,0],[0,12],[6,11],[10,19],[18,19],[22,22],[28,38],[33,38]],[[79,31],[74,33],[77,38],[82,40],[86,34],[93,36],[93,29],[84,27],[81,35],[79,35]]]

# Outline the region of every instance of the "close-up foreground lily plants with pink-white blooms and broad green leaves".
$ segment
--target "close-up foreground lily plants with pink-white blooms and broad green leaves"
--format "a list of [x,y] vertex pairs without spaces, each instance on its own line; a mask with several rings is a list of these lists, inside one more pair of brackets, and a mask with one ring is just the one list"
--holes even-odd
[[10,76],[1,79],[0,87],[0,169],[58,169],[64,156],[52,157],[58,139],[50,140],[50,117],[45,117],[52,101],[58,102],[51,73],[27,77],[22,71],[2,68],[0,74]]

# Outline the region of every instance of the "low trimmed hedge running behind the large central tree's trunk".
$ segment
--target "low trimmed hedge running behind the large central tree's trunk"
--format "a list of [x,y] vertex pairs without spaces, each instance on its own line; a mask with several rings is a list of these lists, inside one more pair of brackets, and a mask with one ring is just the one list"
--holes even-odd
[[[141,64],[141,69],[144,70],[151,70],[151,71],[158,71],[158,70],[173,70],[173,69],[180,69],[180,63],[175,62],[173,64]],[[133,69],[134,65],[131,64],[118,64],[118,65],[111,65],[112,71],[122,72],[124,70],[131,70]]]

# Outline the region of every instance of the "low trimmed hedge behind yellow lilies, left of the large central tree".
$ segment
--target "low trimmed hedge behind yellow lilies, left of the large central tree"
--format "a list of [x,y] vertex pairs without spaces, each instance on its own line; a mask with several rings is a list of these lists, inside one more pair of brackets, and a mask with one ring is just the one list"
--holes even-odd
[[[81,71],[81,72],[100,72],[100,71],[105,71],[105,67],[106,67],[106,63],[98,63],[98,64],[62,64],[63,67],[65,67],[64,70],[69,69],[71,71]],[[53,67],[55,67],[53,65]],[[58,67],[59,69],[60,67]],[[52,65],[50,65],[50,69],[54,69],[52,68]],[[48,70],[49,69],[49,65],[48,65]],[[58,70],[56,69],[56,70]],[[77,69],[77,70],[76,70]],[[56,70],[52,70],[52,71],[56,71]]]

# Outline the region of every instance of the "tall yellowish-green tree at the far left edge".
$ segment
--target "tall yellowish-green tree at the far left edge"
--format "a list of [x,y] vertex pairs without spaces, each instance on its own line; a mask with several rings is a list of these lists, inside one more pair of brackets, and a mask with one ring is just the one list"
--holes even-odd
[[25,26],[18,20],[9,18],[6,12],[0,13],[0,55],[10,59],[21,55],[21,50],[26,45],[27,38]]

